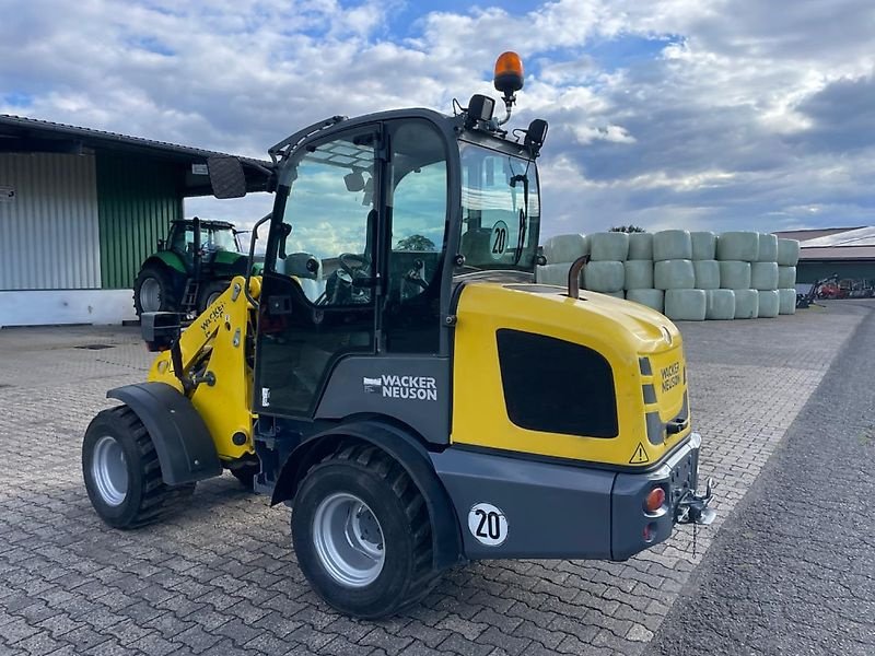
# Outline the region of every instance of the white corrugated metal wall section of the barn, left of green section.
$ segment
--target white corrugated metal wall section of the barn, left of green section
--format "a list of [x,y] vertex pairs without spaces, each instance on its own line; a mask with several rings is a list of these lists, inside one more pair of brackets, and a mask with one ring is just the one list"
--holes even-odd
[[[101,286],[93,155],[0,153],[0,291]],[[5,195],[8,197],[8,195]]]

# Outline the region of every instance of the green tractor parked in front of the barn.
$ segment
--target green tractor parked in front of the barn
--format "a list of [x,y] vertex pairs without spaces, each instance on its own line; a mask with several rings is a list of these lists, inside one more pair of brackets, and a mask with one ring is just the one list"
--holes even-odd
[[238,231],[225,221],[177,220],[166,239],[149,256],[133,283],[137,316],[145,312],[200,314],[228,289],[234,276],[246,276],[247,256]]

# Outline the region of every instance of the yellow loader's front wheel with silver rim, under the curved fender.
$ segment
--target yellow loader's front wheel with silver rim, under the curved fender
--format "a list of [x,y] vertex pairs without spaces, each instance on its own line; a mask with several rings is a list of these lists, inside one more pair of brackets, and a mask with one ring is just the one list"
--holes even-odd
[[97,515],[115,528],[151,524],[195,491],[195,483],[164,484],[152,438],[127,406],[92,420],[82,444],[82,475]]

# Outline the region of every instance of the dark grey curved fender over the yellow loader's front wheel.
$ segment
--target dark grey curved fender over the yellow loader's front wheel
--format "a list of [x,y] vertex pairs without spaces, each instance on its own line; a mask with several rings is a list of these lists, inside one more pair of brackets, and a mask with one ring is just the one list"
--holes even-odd
[[182,393],[166,383],[138,383],[110,389],[106,397],[127,403],[143,422],[167,485],[202,481],[222,473],[222,462],[207,424]]

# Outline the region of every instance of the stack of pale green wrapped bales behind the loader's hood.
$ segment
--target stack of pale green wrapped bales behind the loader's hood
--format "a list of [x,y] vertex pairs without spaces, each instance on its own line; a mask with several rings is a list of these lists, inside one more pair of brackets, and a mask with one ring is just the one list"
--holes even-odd
[[798,242],[756,232],[595,233],[547,241],[537,280],[567,285],[588,254],[581,286],[626,297],[669,319],[769,318],[794,314]]

